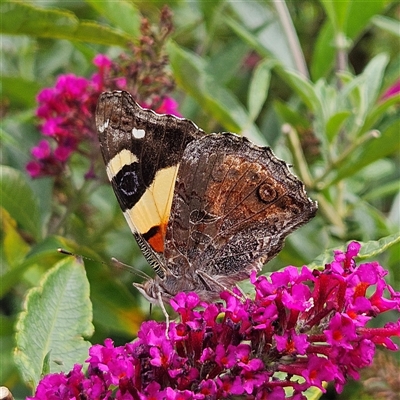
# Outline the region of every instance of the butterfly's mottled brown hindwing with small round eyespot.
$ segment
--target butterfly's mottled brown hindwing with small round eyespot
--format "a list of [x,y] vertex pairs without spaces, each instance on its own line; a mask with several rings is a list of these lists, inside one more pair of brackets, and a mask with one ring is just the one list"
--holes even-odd
[[183,154],[165,259],[176,276],[201,270],[231,287],[273,258],[316,211],[270,148],[229,133],[208,135]]

